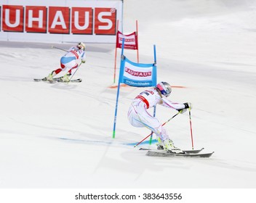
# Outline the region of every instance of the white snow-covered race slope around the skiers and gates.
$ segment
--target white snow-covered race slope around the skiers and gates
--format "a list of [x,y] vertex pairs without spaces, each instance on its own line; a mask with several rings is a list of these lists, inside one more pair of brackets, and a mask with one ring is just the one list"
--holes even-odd
[[[52,45],[71,44],[0,41],[0,188],[255,188],[255,9],[248,0],[124,1],[124,33],[138,20],[140,62],[153,62],[156,44],[158,80],[172,84],[173,101],[192,102],[194,146],[215,151],[209,159],[133,147],[150,133],[127,120],[142,88],[121,88],[112,138],[114,44],[87,44],[74,76],[82,83],[49,84],[33,78],[58,67],[63,51]],[[174,114],[156,110],[162,123]],[[188,114],[166,128],[191,149]]]

